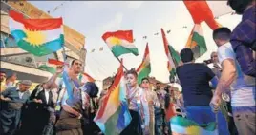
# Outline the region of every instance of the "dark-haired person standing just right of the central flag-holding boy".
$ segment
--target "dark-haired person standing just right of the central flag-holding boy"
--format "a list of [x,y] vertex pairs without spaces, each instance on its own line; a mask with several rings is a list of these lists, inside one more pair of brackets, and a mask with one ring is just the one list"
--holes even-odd
[[157,96],[157,93],[152,91],[149,83],[148,78],[143,78],[141,81],[141,88],[143,88],[143,93],[146,96],[146,100],[148,103],[148,108],[149,108],[149,134],[150,135],[155,135],[155,108],[154,107],[160,107],[160,102]]

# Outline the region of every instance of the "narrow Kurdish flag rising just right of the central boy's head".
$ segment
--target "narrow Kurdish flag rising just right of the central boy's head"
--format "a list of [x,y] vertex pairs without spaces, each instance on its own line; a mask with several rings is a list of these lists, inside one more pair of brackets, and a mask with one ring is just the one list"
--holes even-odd
[[141,83],[141,80],[144,77],[148,77],[150,72],[151,72],[151,66],[150,66],[150,58],[149,58],[149,48],[148,48],[148,43],[147,43],[143,60],[142,60],[141,64],[139,65],[139,68],[137,68],[138,84]]

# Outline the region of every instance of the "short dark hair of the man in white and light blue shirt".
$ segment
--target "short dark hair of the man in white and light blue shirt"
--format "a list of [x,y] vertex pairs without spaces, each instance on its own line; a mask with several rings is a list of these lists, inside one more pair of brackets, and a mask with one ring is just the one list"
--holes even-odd
[[213,39],[229,40],[231,35],[231,30],[228,28],[215,29],[212,33]]

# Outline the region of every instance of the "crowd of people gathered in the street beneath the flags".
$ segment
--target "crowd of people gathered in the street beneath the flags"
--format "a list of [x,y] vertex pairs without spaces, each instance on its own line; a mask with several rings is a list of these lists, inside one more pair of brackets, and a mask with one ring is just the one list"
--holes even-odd
[[[174,116],[199,125],[216,122],[219,135],[256,133],[255,0],[228,2],[238,14],[243,14],[241,23],[233,31],[213,31],[218,50],[211,53],[209,62],[195,63],[190,48],[181,50],[182,64],[176,68],[181,91],[152,84],[146,77],[138,83],[134,68],[125,72],[132,120],[121,135],[172,134],[170,123]],[[209,63],[213,68],[208,67]],[[7,77],[1,71],[1,135],[103,134],[93,119],[108,89],[101,90],[97,97],[99,89],[95,83],[79,81],[79,60],[73,60],[67,71],[64,67],[58,66],[51,79],[32,93],[28,90],[32,81],[21,80],[14,85],[18,76],[12,73]],[[56,81],[60,74],[69,79]],[[67,90],[69,87],[72,91]]]

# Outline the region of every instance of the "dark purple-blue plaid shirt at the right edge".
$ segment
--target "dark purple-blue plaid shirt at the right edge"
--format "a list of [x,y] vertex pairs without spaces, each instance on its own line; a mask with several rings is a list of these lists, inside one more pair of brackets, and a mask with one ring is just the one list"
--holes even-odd
[[[252,6],[243,13],[242,21],[232,31],[230,42],[236,53],[242,71],[256,77],[256,59],[253,58],[253,48],[256,43],[256,8]],[[255,49],[255,47],[254,47]]]

